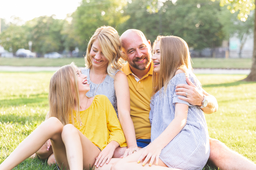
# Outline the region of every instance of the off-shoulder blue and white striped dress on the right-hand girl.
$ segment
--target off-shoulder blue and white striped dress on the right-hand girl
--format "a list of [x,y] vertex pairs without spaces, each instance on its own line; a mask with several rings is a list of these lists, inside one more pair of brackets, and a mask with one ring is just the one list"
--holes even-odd
[[[195,76],[188,74],[190,81],[198,87]],[[149,119],[151,124],[151,141],[154,141],[172,122],[175,116],[175,103],[189,106],[187,124],[161,151],[159,158],[170,168],[184,170],[201,170],[205,166],[210,144],[204,113],[198,106],[178,99],[175,86],[187,84],[185,73],[175,75],[169,82],[166,94],[159,91],[152,97]],[[198,87],[200,90],[201,87]],[[163,94],[163,88],[161,90]],[[184,97],[184,96],[182,96]]]

